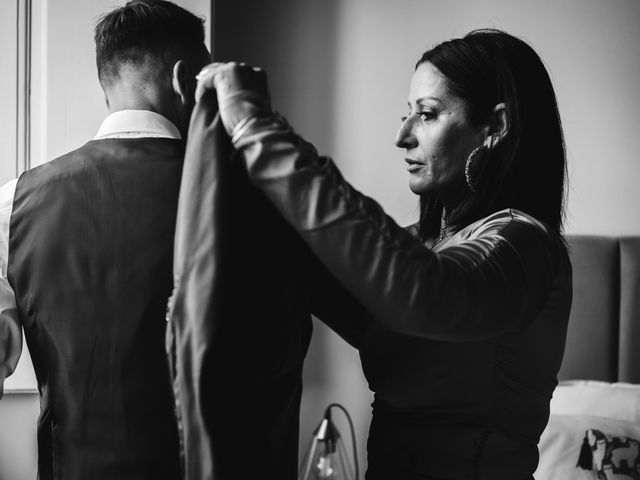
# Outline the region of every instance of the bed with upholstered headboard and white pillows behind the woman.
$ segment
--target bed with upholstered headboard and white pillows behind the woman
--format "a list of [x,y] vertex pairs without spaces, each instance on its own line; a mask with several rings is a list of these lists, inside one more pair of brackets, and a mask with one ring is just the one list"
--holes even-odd
[[536,479],[640,479],[640,237],[567,240],[573,306]]

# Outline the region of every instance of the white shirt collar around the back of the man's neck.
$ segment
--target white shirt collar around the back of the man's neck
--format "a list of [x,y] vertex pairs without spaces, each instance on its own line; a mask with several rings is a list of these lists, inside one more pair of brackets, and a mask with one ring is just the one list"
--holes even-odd
[[120,110],[104,119],[93,139],[140,137],[182,138],[178,128],[159,113],[149,110]]

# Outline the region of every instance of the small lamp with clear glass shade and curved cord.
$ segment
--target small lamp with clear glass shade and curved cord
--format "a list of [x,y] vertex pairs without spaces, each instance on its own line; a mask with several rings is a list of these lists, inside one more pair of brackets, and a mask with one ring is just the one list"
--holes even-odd
[[[353,466],[340,436],[340,432],[331,420],[331,409],[339,408],[347,417],[351,430],[353,446]],[[355,469],[354,469],[355,467]],[[313,431],[313,438],[304,459],[300,464],[299,480],[359,480],[358,454],[356,449],[355,429],[347,409],[338,403],[330,404],[318,427]]]

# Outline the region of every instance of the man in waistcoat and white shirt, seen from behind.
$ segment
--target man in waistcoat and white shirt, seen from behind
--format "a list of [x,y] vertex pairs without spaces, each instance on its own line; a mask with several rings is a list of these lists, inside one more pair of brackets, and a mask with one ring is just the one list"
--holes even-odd
[[109,116],[0,192],[0,387],[21,327],[41,395],[40,479],[180,478],[165,353],[202,19],[133,0],[95,28]]

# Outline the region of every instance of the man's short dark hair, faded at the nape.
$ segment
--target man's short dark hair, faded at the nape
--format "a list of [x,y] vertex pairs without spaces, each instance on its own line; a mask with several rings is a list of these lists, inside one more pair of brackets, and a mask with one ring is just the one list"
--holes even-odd
[[205,48],[204,19],[165,0],[131,0],[105,14],[94,33],[103,86],[118,78],[124,63],[142,65],[149,57],[196,55]]

